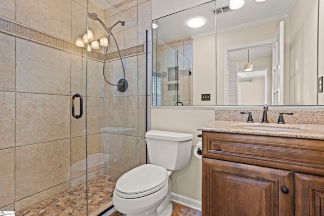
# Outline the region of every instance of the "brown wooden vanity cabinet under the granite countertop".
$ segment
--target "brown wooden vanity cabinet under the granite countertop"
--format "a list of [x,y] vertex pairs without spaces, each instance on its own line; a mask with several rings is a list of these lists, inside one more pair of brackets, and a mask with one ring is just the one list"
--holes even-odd
[[324,141],[203,131],[202,215],[324,215]]

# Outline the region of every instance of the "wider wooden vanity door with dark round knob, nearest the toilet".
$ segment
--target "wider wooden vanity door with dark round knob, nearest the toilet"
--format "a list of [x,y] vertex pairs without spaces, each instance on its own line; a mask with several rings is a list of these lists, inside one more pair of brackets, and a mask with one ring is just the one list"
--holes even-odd
[[291,190],[290,171],[203,158],[203,216],[288,216]]

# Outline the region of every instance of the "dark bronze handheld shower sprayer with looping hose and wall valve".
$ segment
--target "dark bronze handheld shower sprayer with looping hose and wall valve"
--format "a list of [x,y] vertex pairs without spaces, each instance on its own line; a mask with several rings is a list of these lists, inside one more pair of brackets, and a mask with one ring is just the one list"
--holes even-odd
[[[118,51],[118,54],[119,54],[119,59],[121,61],[121,66],[123,66],[123,72],[124,72],[124,78],[122,79],[119,79],[118,83],[117,84],[113,84],[113,83],[110,83],[107,79],[106,79],[106,76],[105,76],[105,63],[106,63],[106,56],[107,56],[107,53],[108,53],[108,47],[106,48],[106,54],[105,54],[105,58],[104,58],[104,61],[103,61],[103,77],[105,79],[106,82],[108,82],[109,84],[111,85],[117,85],[117,91],[119,92],[125,92],[127,90],[127,87],[128,87],[128,82],[126,80],[126,73],[125,73],[125,67],[124,67],[124,63],[123,63],[123,60],[121,59],[121,55],[120,55],[120,51],[119,51],[119,48],[118,48],[118,44],[117,44],[117,41],[116,41],[116,38],[114,37],[114,35],[112,34],[111,32],[111,29],[113,27],[115,27],[118,23],[121,23],[122,26],[125,25],[125,21],[117,21],[115,24],[113,24],[112,26],[110,26],[109,28],[106,26],[106,24],[98,17],[98,15],[95,13],[95,12],[89,12],[88,13],[88,16],[90,19],[92,20],[97,20],[98,22],[100,22],[100,24],[103,26],[103,28],[107,31],[108,34],[110,34],[115,43],[116,43],[116,47],[117,47],[117,51]],[[109,36],[108,36],[108,39],[109,39]]]

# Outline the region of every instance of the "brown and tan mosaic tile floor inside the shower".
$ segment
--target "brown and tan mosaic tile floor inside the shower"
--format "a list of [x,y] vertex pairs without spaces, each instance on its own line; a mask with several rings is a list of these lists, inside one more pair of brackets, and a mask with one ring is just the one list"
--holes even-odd
[[[88,181],[88,214],[96,216],[112,205],[112,193],[117,179],[101,175]],[[86,215],[86,183],[37,202],[16,212],[16,216]]]

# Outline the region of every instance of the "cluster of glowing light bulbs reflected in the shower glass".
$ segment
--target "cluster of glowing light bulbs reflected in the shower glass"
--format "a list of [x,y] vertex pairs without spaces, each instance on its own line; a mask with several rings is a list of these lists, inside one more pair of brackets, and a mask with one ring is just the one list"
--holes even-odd
[[93,32],[88,29],[88,33],[85,33],[83,37],[78,37],[75,41],[76,47],[85,47],[87,46],[87,51],[91,52],[92,49],[98,50],[101,47],[108,47],[107,37],[102,37],[98,40],[94,40]]

